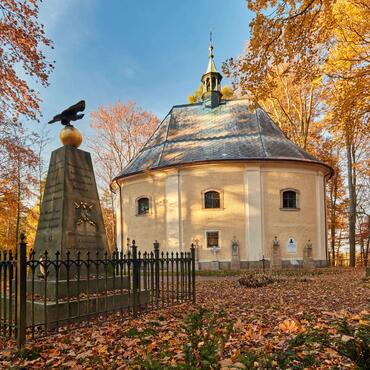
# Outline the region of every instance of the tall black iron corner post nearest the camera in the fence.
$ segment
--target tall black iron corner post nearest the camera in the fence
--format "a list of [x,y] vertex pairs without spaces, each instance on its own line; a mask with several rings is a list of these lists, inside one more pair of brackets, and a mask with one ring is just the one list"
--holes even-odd
[[21,233],[21,241],[17,245],[17,347],[22,349],[26,343],[26,277],[27,277],[27,260],[26,260],[26,235]]

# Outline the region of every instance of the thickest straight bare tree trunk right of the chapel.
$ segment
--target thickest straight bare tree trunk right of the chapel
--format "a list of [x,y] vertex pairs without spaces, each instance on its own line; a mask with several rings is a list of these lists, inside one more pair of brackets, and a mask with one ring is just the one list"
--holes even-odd
[[346,138],[347,171],[348,171],[348,241],[349,241],[349,265],[356,265],[356,198],[353,186],[352,151],[349,138]]

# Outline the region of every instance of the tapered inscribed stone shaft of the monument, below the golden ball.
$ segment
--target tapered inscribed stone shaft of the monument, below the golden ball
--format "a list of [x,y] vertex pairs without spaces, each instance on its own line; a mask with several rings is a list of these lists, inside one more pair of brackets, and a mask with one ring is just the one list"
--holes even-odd
[[47,250],[71,258],[78,251],[107,251],[107,239],[96,188],[90,153],[63,146],[51,155],[40,220],[36,233],[35,252]]

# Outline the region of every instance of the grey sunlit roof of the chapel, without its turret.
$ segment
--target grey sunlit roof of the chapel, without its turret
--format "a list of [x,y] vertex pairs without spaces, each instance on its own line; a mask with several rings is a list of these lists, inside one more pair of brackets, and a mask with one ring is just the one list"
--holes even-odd
[[291,142],[262,108],[251,111],[248,100],[236,99],[214,108],[204,102],[174,106],[116,179],[183,164],[256,160],[326,166]]

